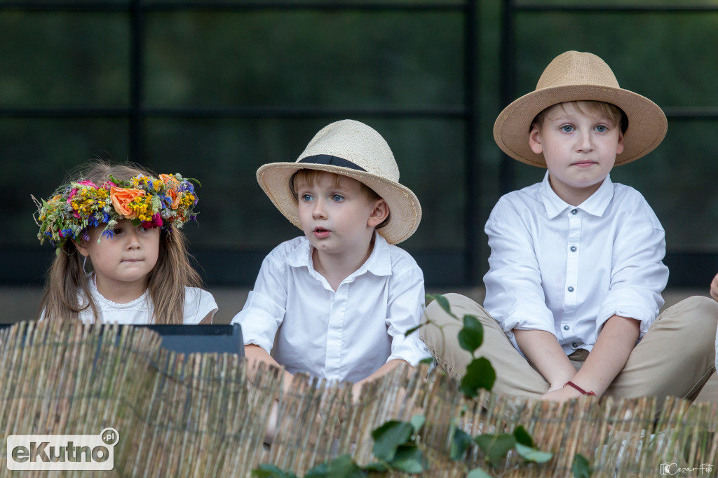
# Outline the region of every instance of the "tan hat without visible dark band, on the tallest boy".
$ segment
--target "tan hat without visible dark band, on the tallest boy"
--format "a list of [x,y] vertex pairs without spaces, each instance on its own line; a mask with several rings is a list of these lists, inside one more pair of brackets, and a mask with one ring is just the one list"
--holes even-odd
[[544,155],[534,153],[528,146],[533,118],[557,103],[582,100],[612,103],[628,118],[628,129],[623,133],[624,149],[616,156],[616,166],[653,151],[666,136],[666,115],[656,103],[620,88],[610,67],[600,57],[572,51],[561,53],[549,63],[536,90],[504,108],[494,123],[494,140],[513,159],[545,168]]

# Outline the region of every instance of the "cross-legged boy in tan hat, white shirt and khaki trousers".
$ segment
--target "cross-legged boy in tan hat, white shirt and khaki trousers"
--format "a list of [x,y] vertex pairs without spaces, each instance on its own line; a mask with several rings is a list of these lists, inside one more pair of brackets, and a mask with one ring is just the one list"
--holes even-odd
[[[484,308],[448,297],[454,314],[482,321],[480,352],[498,393],[693,399],[714,371],[718,304],[691,297],[658,316],[668,281],[663,228],[643,196],[609,177],[656,148],[666,126],[661,108],[582,52],[556,57],[536,90],[498,116],[500,149],[548,169],[491,212]],[[433,303],[426,316],[451,323]],[[438,334],[425,330],[437,355]],[[459,347],[438,354],[454,375],[470,361]]]

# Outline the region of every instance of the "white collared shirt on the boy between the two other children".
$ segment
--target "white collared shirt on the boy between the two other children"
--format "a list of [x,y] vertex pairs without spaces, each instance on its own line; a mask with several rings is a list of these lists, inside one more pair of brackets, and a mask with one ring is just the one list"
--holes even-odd
[[337,291],[314,270],[307,238],[274,248],[232,319],[245,345],[272,352],[291,373],[354,383],[389,360],[429,357],[418,331],[404,337],[424,311],[424,274],[409,253],[374,238],[367,261]]

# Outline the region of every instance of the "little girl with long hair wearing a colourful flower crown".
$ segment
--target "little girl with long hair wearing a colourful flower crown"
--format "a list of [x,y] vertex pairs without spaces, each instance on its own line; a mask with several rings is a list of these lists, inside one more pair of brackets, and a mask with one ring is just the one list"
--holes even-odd
[[101,161],[79,177],[49,200],[36,200],[37,238],[56,248],[39,318],[210,323],[217,304],[200,289],[180,230],[195,220],[192,182]]

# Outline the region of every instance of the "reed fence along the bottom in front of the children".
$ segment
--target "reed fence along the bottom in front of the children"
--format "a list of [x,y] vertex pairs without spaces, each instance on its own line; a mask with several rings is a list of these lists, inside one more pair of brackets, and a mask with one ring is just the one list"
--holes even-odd
[[[467,399],[457,383],[422,365],[394,370],[368,385],[359,403],[350,387],[297,375],[281,394],[279,370],[230,354],[181,355],[159,335],[129,326],[21,322],[0,334],[0,476],[88,477],[88,472],[11,472],[9,435],[93,435],[115,428],[113,477],[250,477],[259,464],[302,476],[317,464],[351,454],[373,459],[371,431],[388,420],[426,417],[419,446],[424,477],[465,477],[484,467],[500,477],[571,477],[575,454],[592,477],[718,476],[718,403],[653,398],[557,404],[482,393]],[[249,380],[251,378],[251,380]],[[277,403],[271,446],[264,444]],[[485,465],[475,446],[449,459],[452,429],[467,434],[526,428],[553,458],[527,464],[509,454]],[[377,476],[404,477],[402,473]]]

